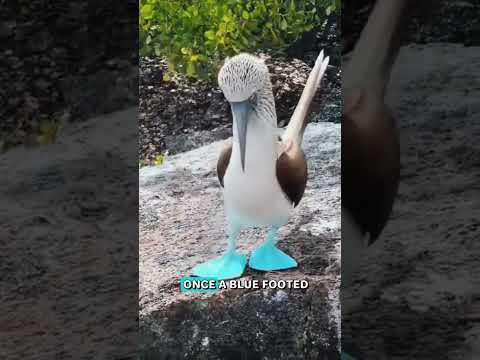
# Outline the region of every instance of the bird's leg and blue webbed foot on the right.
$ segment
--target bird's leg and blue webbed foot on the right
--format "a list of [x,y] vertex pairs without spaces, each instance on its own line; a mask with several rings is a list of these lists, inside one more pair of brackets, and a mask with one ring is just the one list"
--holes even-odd
[[248,265],[255,270],[285,270],[297,266],[297,262],[275,246],[278,228],[272,226],[267,239],[252,252]]

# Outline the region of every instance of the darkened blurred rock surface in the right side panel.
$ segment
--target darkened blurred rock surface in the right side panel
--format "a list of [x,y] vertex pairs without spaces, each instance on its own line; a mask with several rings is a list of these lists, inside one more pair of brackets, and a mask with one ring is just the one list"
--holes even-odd
[[361,302],[342,336],[366,359],[480,358],[479,74],[480,48],[452,44],[404,47],[394,67],[399,195],[342,291]]

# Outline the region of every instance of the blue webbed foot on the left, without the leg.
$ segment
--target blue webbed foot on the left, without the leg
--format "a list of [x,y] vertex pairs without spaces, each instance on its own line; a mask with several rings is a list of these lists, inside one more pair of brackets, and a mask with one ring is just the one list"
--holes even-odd
[[234,279],[242,276],[247,266],[247,257],[234,251],[195,266],[193,275],[214,277],[218,280]]

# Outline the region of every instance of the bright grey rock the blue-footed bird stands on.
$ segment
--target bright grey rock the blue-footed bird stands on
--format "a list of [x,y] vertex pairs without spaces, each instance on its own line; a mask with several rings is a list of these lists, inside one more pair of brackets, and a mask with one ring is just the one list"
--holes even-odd
[[[300,264],[284,272],[248,269],[244,279],[306,279],[307,290],[222,290],[182,294],[180,277],[220,255],[226,238],[215,166],[221,142],[140,170],[140,323],[144,358],[333,359],[338,356],[340,126],[310,124],[309,181],[279,245]],[[242,231],[250,253],[263,229]],[[177,357],[175,357],[177,356]],[[242,357],[243,356],[243,357]]]

